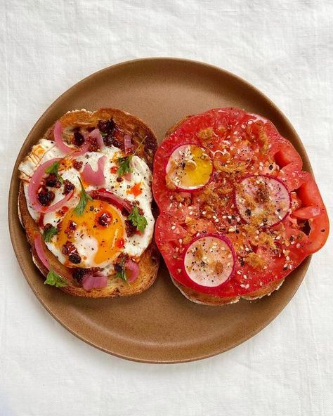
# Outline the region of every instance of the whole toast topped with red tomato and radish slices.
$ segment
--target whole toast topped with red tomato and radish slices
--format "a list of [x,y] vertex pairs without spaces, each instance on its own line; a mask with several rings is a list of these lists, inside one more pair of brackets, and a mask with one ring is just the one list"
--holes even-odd
[[318,186],[292,143],[237,108],[186,117],[155,155],[155,241],[191,301],[258,299],[327,240]]

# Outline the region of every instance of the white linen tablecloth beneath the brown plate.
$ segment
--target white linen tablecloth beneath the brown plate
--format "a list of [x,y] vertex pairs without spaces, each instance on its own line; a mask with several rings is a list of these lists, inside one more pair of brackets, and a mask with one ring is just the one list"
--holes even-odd
[[220,356],[131,363],[61,327],[22,276],[7,195],[22,141],[60,93],[123,60],[192,58],[244,77],[298,131],[332,214],[332,1],[0,1],[0,415],[333,414],[332,240],[265,330]]

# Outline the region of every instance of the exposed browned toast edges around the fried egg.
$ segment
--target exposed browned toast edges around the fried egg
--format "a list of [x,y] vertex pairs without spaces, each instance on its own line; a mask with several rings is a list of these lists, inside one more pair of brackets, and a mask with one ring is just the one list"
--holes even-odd
[[[66,126],[71,125],[94,125],[96,124],[97,120],[107,120],[110,118],[115,121],[117,126],[120,126],[126,132],[131,134],[134,149],[136,150],[136,155],[145,160],[151,169],[155,150],[157,148],[157,138],[152,130],[146,126],[141,119],[138,119],[138,117],[134,117],[133,115],[130,115],[122,110],[103,108],[97,110],[96,112],[89,112],[86,110],[74,110],[72,112],[67,112],[65,115],[63,115],[63,117],[60,118],[60,122],[65,128]],[[44,138],[53,140],[53,126],[51,126],[46,131]],[[143,141],[143,138],[145,138],[144,145],[138,146]],[[20,222],[22,223],[23,228],[25,228],[27,241],[31,246],[32,259],[34,264],[39,268],[41,273],[46,276],[48,270],[37,256],[34,248],[34,239],[36,238],[36,235],[40,233],[40,231],[37,223],[35,223],[34,219],[32,219],[32,216],[30,215],[30,212],[27,208],[27,201],[23,189],[23,181],[20,183],[20,190],[18,195],[18,212],[20,216]],[[143,252],[138,261],[140,274],[134,282],[127,283],[120,279],[109,278],[107,287],[103,289],[93,289],[90,292],[84,290],[79,282],[72,278],[70,269],[63,266],[63,264],[58,261],[53,253],[47,249],[44,242],[43,245],[46,258],[51,268],[57,270],[60,275],[68,280],[68,285],[65,287],[60,287],[60,289],[63,290],[63,292],[72,294],[74,296],[91,298],[131,296],[132,294],[139,294],[144,290],[147,290],[157,277],[157,271],[159,268],[159,252],[157,251],[157,247],[154,241],[150,242],[150,245],[147,247],[147,249],[145,249],[145,252]]]

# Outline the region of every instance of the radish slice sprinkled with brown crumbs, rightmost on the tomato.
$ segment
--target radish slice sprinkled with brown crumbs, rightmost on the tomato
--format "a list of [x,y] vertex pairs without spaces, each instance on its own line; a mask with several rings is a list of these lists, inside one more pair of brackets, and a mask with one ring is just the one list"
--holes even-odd
[[292,204],[284,183],[273,176],[247,176],[236,185],[235,203],[247,223],[275,226],[287,216]]

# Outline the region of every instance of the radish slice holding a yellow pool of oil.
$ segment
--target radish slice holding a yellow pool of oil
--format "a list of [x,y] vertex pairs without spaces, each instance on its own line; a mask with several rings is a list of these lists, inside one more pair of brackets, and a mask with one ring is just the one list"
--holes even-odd
[[179,190],[198,190],[209,182],[212,173],[208,151],[188,143],[171,153],[166,164],[166,183]]

